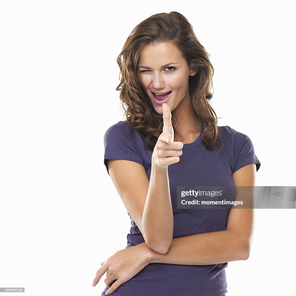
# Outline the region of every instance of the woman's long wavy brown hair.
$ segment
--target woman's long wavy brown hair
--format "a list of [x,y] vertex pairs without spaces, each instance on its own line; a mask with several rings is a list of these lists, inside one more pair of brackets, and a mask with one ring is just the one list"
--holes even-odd
[[[209,104],[213,94],[214,68],[209,54],[194,34],[192,25],[180,13],[157,13],[137,25],[128,36],[117,63],[120,68],[120,99],[126,121],[136,129],[147,146],[153,150],[163,131],[163,115],[158,114],[139,80],[138,61],[141,50],[147,44],[173,41],[181,50],[189,68],[197,68],[197,74],[189,76],[189,91],[193,110],[204,123],[202,141],[207,148],[218,139],[217,116]],[[121,76],[121,77],[120,77]],[[174,133],[178,130],[178,120],[172,112]],[[221,148],[221,149],[222,149]]]

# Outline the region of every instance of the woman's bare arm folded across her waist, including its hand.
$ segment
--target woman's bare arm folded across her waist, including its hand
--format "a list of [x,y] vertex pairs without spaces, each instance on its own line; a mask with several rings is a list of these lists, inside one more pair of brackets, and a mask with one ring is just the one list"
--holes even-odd
[[[255,186],[255,164],[246,165],[232,175],[235,186]],[[114,292],[149,263],[210,265],[246,260],[250,254],[253,230],[253,209],[230,209],[227,230],[194,234],[172,239],[167,253],[151,250],[146,242],[120,250],[108,258],[97,271],[95,286],[107,271],[106,294]],[[111,267],[111,268],[110,268]],[[111,269],[111,271],[110,271]]]

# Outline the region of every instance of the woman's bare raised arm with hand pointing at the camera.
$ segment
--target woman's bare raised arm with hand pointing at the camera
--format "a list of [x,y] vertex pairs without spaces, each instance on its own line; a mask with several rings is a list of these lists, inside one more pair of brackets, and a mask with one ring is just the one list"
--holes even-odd
[[139,163],[130,160],[107,161],[112,182],[147,246],[161,254],[168,252],[173,239],[168,165],[179,161],[183,147],[183,143],[173,141],[168,105],[163,104],[163,109],[163,133],[152,154],[150,182]]

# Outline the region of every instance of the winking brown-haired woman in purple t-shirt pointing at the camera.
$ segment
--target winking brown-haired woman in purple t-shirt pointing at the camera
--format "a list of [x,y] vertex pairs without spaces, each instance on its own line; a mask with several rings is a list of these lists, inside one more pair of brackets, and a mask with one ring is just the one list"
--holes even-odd
[[102,295],[225,295],[227,262],[250,253],[252,209],[179,209],[177,186],[254,186],[252,141],[217,126],[214,69],[180,13],[137,25],[118,64],[126,121],[106,131],[104,164],[131,230],[93,286],[106,272]]

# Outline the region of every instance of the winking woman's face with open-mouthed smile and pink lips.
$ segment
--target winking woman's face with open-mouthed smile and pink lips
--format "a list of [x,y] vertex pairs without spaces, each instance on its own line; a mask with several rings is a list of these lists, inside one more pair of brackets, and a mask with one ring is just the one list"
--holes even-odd
[[157,113],[163,114],[163,103],[169,105],[171,112],[182,107],[186,110],[190,104],[189,76],[197,70],[189,69],[172,41],[144,46],[138,65],[139,79]]

